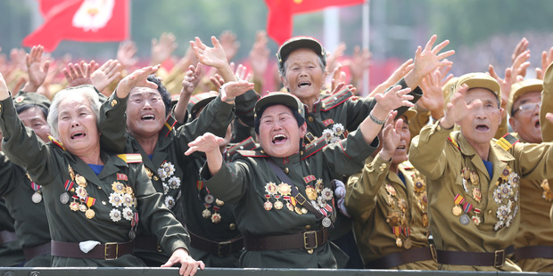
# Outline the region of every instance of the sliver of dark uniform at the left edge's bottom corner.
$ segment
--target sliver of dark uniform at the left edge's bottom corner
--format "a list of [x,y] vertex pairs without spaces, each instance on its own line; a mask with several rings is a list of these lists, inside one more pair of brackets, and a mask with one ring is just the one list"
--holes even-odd
[[25,262],[13,223],[15,221],[5,207],[4,199],[0,199],[0,266],[17,266]]

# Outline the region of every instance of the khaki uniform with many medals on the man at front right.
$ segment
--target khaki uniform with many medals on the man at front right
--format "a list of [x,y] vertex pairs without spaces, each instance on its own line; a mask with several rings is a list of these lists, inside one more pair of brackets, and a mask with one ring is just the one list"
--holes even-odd
[[[503,250],[519,230],[520,179],[550,177],[553,149],[550,143],[516,143],[511,137],[491,141],[491,176],[459,132],[436,123],[413,139],[409,160],[428,182],[430,228],[440,269],[520,271],[508,258],[503,262]],[[480,265],[455,265],[459,261]]]

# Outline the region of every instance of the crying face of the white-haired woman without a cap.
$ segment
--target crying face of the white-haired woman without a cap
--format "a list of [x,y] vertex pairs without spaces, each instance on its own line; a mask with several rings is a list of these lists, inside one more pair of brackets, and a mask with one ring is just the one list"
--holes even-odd
[[72,154],[85,156],[100,148],[100,133],[96,115],[90,101],[83,95],[75,95],[58,106],[59,140]]

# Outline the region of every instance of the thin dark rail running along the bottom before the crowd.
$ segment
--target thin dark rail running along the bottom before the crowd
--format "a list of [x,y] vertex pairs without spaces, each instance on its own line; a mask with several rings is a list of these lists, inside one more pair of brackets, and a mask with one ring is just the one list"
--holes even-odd
[[[476,276],[477,275],[543,275],[553,273],[535,272],[434,272],[434,271],[392,271],[392,270],[329,270],[329,269],[228,269],[206,268],[197,276]],[[157,267],[0,267],[0,276],[177,276],[177,268]]]

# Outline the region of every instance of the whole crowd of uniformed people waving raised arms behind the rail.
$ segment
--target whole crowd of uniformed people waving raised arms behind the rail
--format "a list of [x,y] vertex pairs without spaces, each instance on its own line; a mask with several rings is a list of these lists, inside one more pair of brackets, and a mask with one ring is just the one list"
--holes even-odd
[[267,42],[247,65],[231,33],[178,60],[163,34],[144,67],[130,42],[12,50],[0,266],[553,272],[553,47],[533,78],[526,38],[453,76],[433,36],[360,96],[367,51],[293,37],[273,69]]

